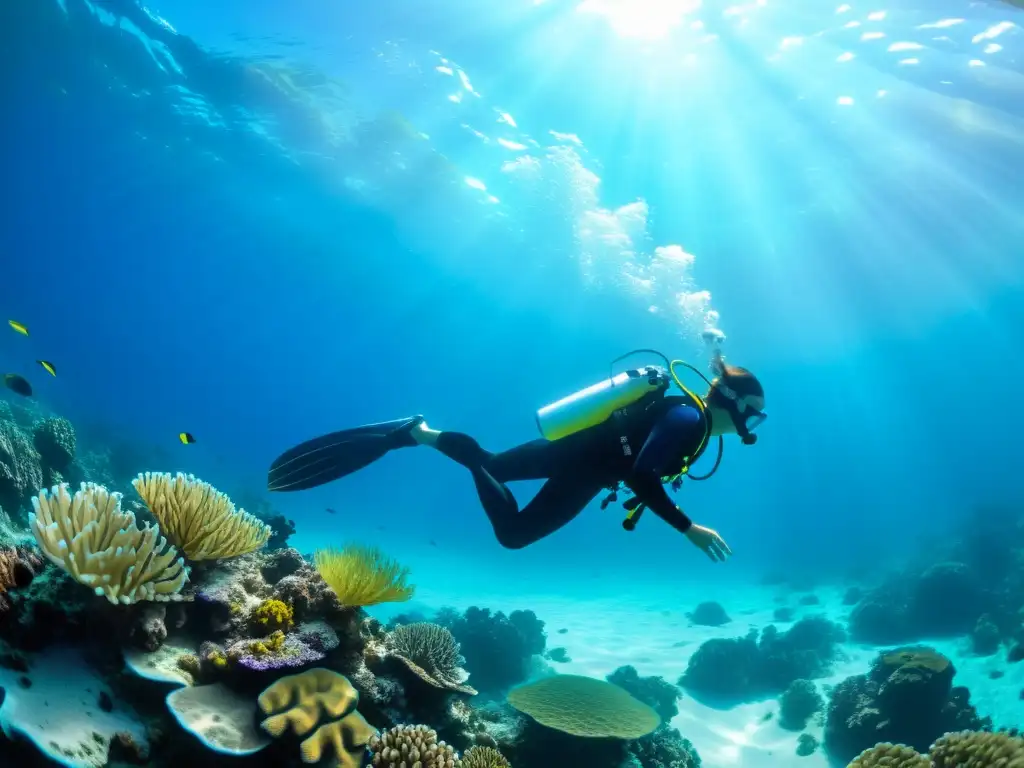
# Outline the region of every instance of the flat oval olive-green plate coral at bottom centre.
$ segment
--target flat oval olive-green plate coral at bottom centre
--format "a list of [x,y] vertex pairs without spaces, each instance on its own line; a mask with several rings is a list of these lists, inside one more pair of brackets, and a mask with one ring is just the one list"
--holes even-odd
[[617,685],[579,675],[520,685],[508,700],[542,725],[574,736],[640,738],[662,724],[654,710]]

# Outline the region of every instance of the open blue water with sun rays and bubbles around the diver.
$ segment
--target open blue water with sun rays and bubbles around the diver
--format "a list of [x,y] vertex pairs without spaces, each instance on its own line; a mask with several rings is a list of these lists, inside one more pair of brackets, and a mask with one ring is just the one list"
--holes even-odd
[[[262,496],[303,550],[378,544],[427,587],[873,567],[1021,496],[1022,22],[997,2],[9,0],[0,306],[31,336],[0,335],[0,367],[139,470]],[[425,450],[262,490],[281,451],[367,421],[531,439],[539,407],[625,351],[703,366],[708,326],[770,414],[680,497],[726,565],[596,503],[504,551],[465,470]]]

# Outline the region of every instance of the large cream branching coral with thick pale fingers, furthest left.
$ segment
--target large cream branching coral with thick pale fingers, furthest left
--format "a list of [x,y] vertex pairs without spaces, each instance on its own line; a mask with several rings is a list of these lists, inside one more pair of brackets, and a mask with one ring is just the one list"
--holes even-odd
[[184,562],[158,528],[136,526],[120,494],[82,483],[72,497],[60,484],[32,506],[29,523],[43,555],[79,584],[115,604],[182,599]]

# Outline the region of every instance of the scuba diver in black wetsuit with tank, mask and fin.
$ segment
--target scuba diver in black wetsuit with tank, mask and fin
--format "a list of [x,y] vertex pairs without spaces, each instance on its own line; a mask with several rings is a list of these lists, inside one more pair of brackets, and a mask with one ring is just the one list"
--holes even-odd
[[[643,366],[609,377],[537,413],[542,437],[501,453],[490,453],[468,434],[437,431],[422,416],[368,424],[316,437],[285,452],[270,466],[269,490],[302,490],[323,485],[371,464],[392,450],[429,445],[469,470],[499,543],[521,549],[555,532],[579,515],[602,489],[611,494],[602,509],[626,486],[633,493],[623,522],[632,530],[650,509],[683,534],[713,561],[732,554],[712,528],[698,525],[672,501],[665,484],[678,489],[684,477],[707,479],[718,469],[726,434],[754,444],[754,431],[766,419],[764,389],[748,370],[726,365],[715,353],[709,381],[682,360],[667,368]],[[629,354],[635,354],[630,352]],[[629,355],[624,355],[624,357]],[[620,357],[615,362],[623,359]],[[675,372],[684,366],[708,383],[699,397]],[[672,383],[681,390],[669,394]],[[702,477],[689,475],[712,437],[718,459]],[[546,480],[522,509],[506,485],[515,480]]]

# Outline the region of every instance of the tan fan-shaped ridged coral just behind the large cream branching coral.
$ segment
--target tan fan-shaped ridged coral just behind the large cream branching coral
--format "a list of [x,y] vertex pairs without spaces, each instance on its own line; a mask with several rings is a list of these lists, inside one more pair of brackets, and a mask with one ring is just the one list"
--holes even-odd
[[189,560],[217,560],[255,552],[270,526],[243,510],[209,483],[178,472],[145,472],[132,484],[167,538]]

